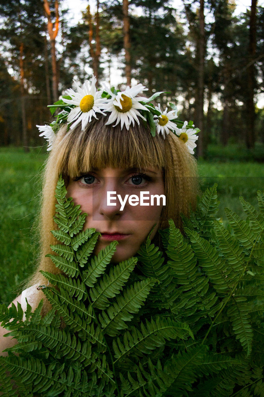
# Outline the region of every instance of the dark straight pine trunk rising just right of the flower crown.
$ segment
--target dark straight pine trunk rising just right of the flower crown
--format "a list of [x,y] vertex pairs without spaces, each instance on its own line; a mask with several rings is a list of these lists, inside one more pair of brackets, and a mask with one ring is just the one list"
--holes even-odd
[[197,42],[198,79],[195,98],[195,126],[201,129],[197,141],[197,155],[203,156],[203,103],[204,103],[204,68],[205,68],[205,16],[204,0],[200,0],[199,37]]

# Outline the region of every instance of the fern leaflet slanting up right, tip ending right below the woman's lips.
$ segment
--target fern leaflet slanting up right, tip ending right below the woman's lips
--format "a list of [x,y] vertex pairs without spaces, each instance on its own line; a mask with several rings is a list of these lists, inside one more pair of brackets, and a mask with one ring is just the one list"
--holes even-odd
[[117,244],[117,241],[111,241],[105,249],[99,252],[98,256],[91,258],[87,270],[82,272],[83,282],[88,287],[93,287],[97,278],[105,271],[106,266],[110,263],[110,260],[116,251]]

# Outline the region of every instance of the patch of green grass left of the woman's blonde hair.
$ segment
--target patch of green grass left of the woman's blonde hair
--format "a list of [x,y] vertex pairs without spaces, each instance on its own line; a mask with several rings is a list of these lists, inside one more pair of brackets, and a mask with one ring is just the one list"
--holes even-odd
[[38,214],[40,173],[46,154],[21,148],[0,149],[0,302],[12,301],[34,269],[38,243],[33,233]]

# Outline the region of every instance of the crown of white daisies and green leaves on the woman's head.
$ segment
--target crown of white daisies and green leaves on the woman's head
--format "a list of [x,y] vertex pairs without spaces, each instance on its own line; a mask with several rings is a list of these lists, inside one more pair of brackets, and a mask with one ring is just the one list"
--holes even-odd
[[103,83],[104,90],[97,90],[94,76],[91,84],[89,81],[82,86],[79,86],[76,81],[74,83],[77,92],[70,88],[65,91],[66,95],[62,96],[62,99],[48,106],[52,115],[57,108],[61,109],[56,119],[50,125],[37,125],[40,131],[39,136],[44,136],[48,141],[47,150],[52,149],[55,133],[61,124],[68,123],[68,129],[73,129],[82,122],[82,130],[84,130],[93,117],[97,119],[96,113],[107,116],[104,112],[111,112],[105,125],[116,122],[113,126],[115,127],[121,123],[121,129],[125,126],[129,130],[131,123],[133,127],[135,121],[140,123],[138,120],[140,117],[145,123],[149,123],[153,137],[157,132],[158,135],[161,133],[165,139],[165,133],[168,134],[171,131],[187,145],[189,152],[194,154],[193,149],[200,130],[194,128],[192,121],[187,123],[187,121],[176,120],[178,110],[174,104],[169,103],[172,110],[167,112],[168,108],[163,111],[160,104],[153,106],[150,103],[164,92],[155,93],[150,98],[136,96],[147,90],[142,84],[131,88],[126,87],[124,91],[120,91],[114,87],[110,89]]

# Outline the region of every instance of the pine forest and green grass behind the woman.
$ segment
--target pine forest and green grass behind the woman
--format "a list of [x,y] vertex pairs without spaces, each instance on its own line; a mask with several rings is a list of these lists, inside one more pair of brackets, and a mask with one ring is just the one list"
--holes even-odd
[[[263,190],[264,7],[233,0],[0,0],[0,301],[9,303],[37,262],[40,175],[50,121],[73,78],[166,91],[178,118],[199,127],[202,189],[218,182],[224,207]],[[179,3],[179,1],[178,1]],[[177,4],[178,4],[177,3]],[[32,229],[33,226],[33,229]]]

